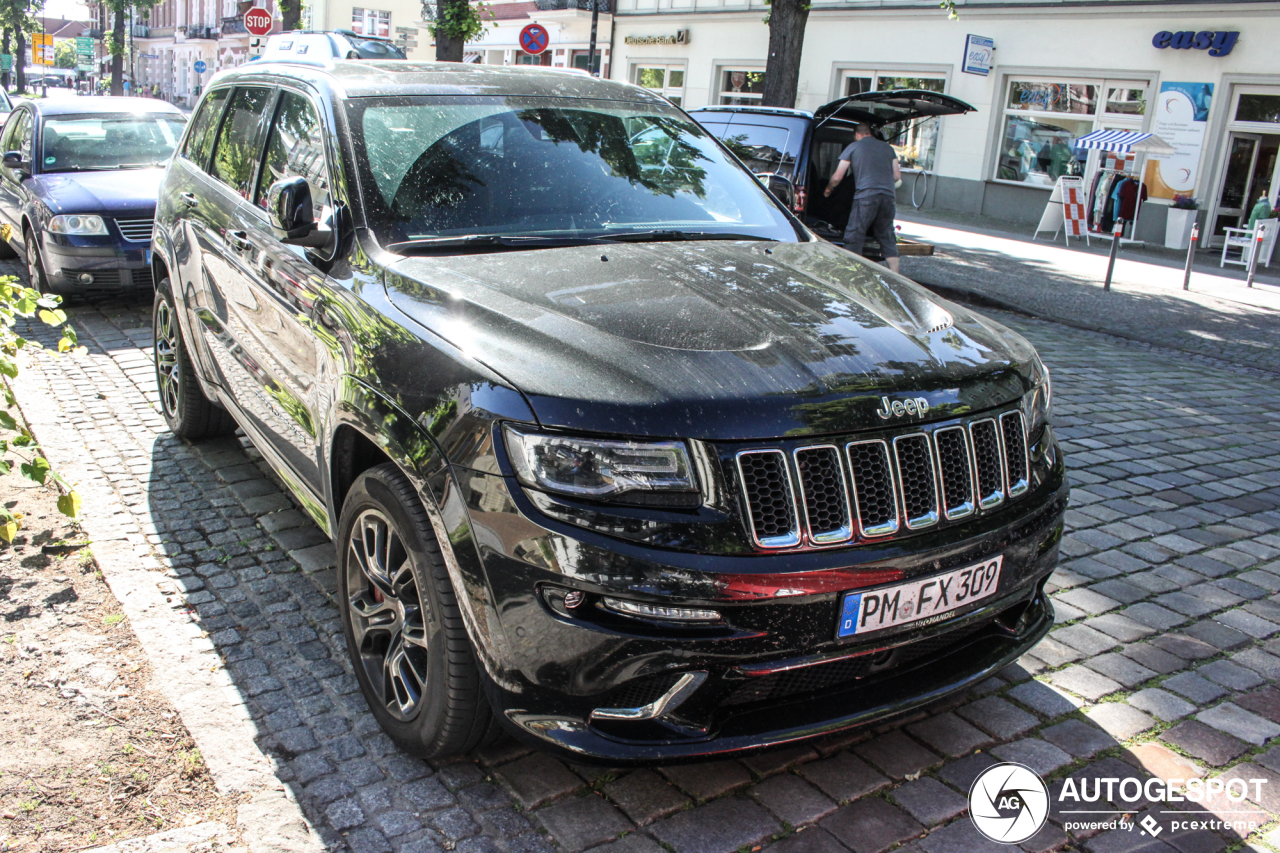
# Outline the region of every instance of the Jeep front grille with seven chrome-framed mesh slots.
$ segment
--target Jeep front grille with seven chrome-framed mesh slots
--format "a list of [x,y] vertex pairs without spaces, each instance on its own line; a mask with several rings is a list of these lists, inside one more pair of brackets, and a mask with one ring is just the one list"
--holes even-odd
[[959,521],[1030,491],[1021,412],[899,435],[736,455],[762,548],[822,547]]

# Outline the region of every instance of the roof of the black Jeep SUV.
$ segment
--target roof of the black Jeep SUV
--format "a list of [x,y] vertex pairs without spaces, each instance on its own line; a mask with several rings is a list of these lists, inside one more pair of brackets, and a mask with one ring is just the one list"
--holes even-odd
[[639,86],[536,65],[475,65],[398,60],[302,64],[265,59],[220,72],[210,86],[241,78],[288,77],[333,87],[347,97],[380,95],[531,95],[666,104]]

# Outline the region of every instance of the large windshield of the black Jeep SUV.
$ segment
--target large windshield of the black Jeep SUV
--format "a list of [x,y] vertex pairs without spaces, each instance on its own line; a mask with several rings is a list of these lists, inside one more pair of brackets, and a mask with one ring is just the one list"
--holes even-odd
[[384,245],[671,233],[796,241],[755,179],[680,111],[547,97],[352,99]]

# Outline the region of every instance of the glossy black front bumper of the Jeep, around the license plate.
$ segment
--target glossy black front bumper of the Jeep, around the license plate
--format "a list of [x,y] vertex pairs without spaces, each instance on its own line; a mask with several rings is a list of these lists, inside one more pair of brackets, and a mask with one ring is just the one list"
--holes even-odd
[[[808,555],[726,557],[645,548],[559,528],[517,488],[474,471],[466,489],[493,619],[481,639],[494,711],[517,736],[576,761],[694,761],[895,716],[989,676],[1052,626],[1043,584],[1057,564],[1068,488],[1061,464],[1007,511],[895,543]],[[707,590],[739,573],[820,571],[913,579],[1004,555],[996,594],[932,625],[836,638],[842,592],[756,601]],[[895,580],[896,583],[896,580]],[[852,585],[858,585],[854,583]],[[882,585],[869,581],[867,587]],[[696,629],[558,606],[562,590],[713,607]],[[681,592],[684,593],[681,596]],[[579,613],[582,613],[581,616]],[[678,703],[641,719],[602,708]],[[686,686],[687,686],[686,680]]]

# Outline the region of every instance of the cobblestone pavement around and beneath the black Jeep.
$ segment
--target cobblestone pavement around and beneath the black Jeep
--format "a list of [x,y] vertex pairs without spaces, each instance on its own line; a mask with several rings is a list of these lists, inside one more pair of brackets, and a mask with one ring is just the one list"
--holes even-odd
[[[276,776],[333,849],[974,853],[1009,849],[965,815],[972,780],[996,761],[1055,785],[1280,771],[1275,377],[1005,318],[1053,371],[1074,482],[1051,588],[1061,625],[1033,654],[929,713],[741,761],[611,771],[504,740],[428,763],[399,753],[366,711],[324,534],[242,442],[164,432],[150,304],[72,315],[90,352],[42,359],[27,406],[56,407],[78,430],[91,485],[118,497],[119,535],[209,631]],[[1258,849],[1280,848],[1280,788],[1257,799],[1207,808],[1261,809],[1228,816],[1260,822],[1248,838]],[[1161,808],[1115,806],[1135,817]],[[1065,820],[1055,809],[1024,849],[1212,853],[1239,841],[1204,830],[1069,839]]]

